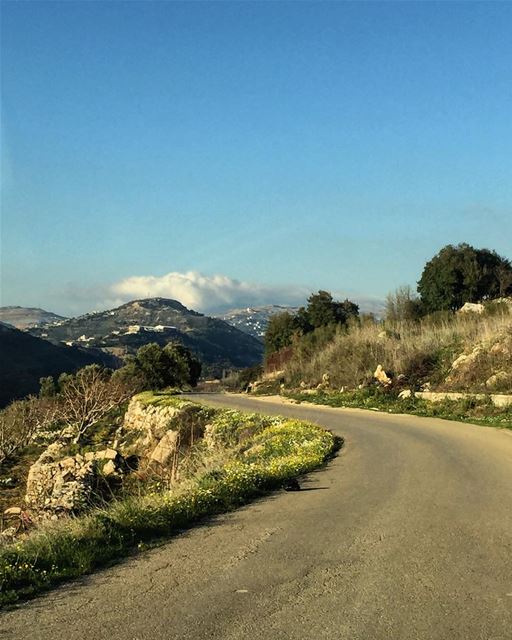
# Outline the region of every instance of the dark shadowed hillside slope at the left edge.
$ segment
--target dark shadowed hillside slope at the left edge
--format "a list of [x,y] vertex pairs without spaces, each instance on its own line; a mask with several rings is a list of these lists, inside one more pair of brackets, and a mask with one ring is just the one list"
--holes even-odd
[[0,407],[39,391],[39,379],[73,372],[88,364],[115,366],[107,354],[54,345],[26,331],[0,324]]

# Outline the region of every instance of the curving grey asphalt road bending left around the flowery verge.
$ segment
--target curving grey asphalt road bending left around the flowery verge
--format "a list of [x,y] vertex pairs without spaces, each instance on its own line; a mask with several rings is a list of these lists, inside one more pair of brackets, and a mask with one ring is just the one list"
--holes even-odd
[[345,447],[300,492],[5,612],[0,638],[510,640],[510,432],[242,396],[206,402],[315,421]]

